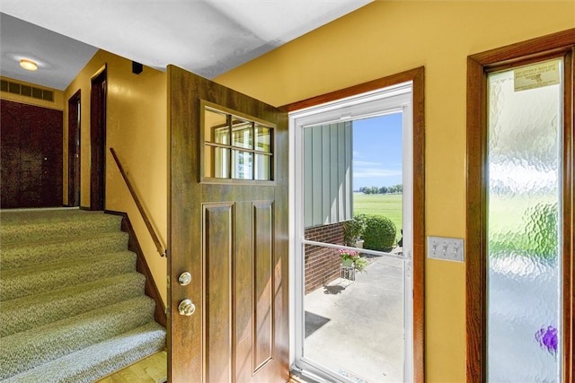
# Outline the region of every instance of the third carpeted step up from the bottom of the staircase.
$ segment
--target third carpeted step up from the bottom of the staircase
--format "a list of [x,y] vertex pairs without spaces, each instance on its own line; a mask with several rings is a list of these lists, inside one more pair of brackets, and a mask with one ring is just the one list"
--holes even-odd
[[27,331],[63,318],[143,295],[146,278],[137,272],[114,275],[65,289],[33,294],[2,303],[0,336]]

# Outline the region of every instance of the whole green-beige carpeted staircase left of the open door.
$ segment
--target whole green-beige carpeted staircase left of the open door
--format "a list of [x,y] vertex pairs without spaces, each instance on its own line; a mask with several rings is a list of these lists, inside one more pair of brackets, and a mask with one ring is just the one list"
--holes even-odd
[[0,381],[92,382],[165,348],[121,219],[0,212]]

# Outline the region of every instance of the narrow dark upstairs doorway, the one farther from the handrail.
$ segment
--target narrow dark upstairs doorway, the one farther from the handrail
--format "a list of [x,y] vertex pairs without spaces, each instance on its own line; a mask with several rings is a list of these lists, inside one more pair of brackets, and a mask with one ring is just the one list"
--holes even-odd
[[80,118],[82,91],[68,100],[68,206],[80,205]]

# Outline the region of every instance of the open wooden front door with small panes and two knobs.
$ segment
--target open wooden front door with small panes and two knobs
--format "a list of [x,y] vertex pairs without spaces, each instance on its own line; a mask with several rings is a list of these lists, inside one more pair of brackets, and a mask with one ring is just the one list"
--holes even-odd
[[168,78],[169,377],[286,381],[287,114],[174,66]]

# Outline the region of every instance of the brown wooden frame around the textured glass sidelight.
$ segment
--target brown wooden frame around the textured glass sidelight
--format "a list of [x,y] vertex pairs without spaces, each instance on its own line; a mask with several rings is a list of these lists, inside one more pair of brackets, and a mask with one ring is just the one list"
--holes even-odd
[[[546,57],[565,60],[565,137],[563,148],[563,238],[573,238],[573,63],[575,29],[564,30],[503,48],[467,57],[467,211],[466,211],[466,336],[468,382],[487,380],[486,346],[486,169],[487,163],[487,74],[494,68],[506,69],[517,63],[528,64]],[[479,85],[479,86],[478,86]],[[563,241],[563,380],[573,378],[573,244]],[[571,293],[570,293],[571,292]],[[571,310],[570,310],[571,308]]]

